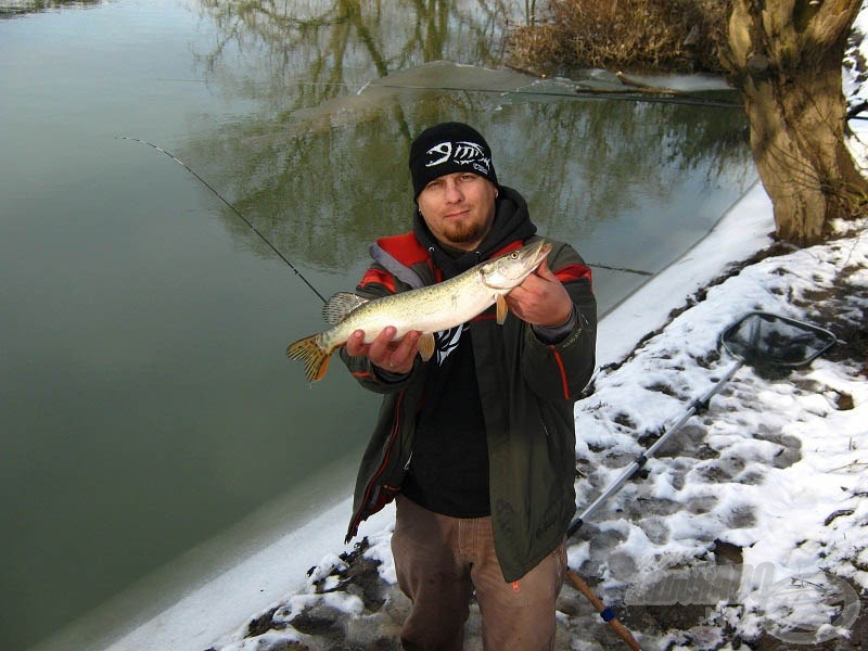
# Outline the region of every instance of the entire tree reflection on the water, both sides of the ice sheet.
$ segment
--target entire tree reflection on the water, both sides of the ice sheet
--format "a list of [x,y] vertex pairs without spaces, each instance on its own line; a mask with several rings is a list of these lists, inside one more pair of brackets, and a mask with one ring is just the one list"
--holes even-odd
[[[200,56],[204,74],[257,110],[192,142],[190,159],[281,251],[337,272],[408,228],[409,143],[444,119],[486,135],[501,182],[526,195],[544,233],[583,251],[607,222],[637,220],[610,264],[629,266],[692,218],[649,210],[698,184],[738,195],[753,181],[740,111],[525,92],[540,81],[502,67],[524,4],[203,0],[221,35]],[[710,209],[706,226],[722,212]]]

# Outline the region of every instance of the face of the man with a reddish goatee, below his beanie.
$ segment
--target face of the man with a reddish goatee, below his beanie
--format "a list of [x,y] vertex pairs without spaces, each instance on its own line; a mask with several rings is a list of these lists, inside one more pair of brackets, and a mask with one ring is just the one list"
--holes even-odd
[[497,188],[485,177],[458,171],[431,181],[416,201],[437,240],[473,251],[492,230],[496,196]]

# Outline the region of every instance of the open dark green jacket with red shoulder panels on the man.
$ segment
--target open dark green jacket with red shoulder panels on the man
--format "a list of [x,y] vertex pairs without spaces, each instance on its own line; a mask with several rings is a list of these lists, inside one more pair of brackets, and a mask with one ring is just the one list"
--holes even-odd
[[[534,235],[525,242],[537,239]],[[513,246],[521,244],[514,242]],[[508,582],[524,576],[560,545],[575,514],[573,404],[595,368],[597,308],[590,270],[572,247],[552,244],[549,266],[564,283],[578,314],[565,339],[545,344],[512,314],[498,326],[494,308],[470,323],[488,436],[495,549]],[[429,252],[412,233],[380,240],[372,253],[381,261],[372,265],[357,288],[361,295],[376,297],[438,280]],[[406,268],[414,273],[407,275]],[[349,540],[362,520],[400,490],[427,365],[417,356],[409,374],[387,382],[368,358],[349,357],[345,348],[341,356],[362,386],[383,394],[359,469]]]

